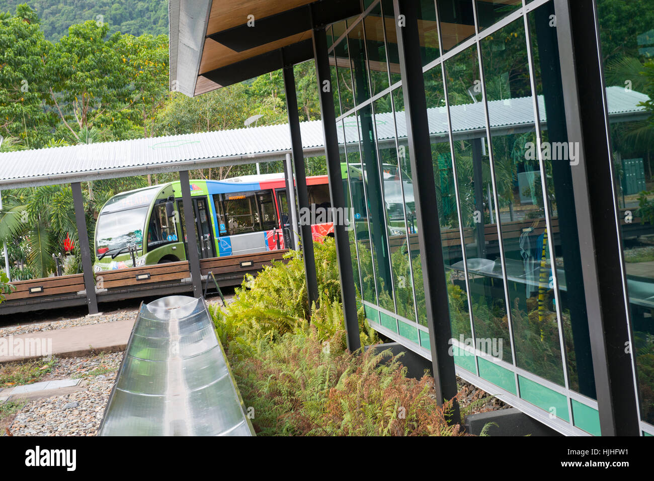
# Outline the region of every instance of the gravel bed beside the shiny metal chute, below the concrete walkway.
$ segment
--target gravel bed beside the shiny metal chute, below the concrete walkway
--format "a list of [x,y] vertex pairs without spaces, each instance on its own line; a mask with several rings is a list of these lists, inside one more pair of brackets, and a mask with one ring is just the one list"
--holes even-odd
[[[82,377],[84,390],[28,401],[9,431],[13,436],[94,436],[116,379],[122,352],[58,359],[45,379]],[[102,374],[92,375],[98,369]]]

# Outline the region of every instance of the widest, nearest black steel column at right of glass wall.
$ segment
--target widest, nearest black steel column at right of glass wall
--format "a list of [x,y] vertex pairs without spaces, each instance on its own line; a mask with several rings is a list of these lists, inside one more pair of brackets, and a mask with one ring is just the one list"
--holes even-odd
[[555,0],[555,14],[568,139],[579,146],[572,184],[600,427],[604,436],[637,436],[626,276],[595,2]]

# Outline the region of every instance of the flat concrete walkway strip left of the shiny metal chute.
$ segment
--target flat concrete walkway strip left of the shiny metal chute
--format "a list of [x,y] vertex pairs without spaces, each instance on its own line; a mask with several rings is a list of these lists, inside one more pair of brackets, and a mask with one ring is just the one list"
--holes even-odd
[[[118,352],[127,347],[134,320],[103,322],[68,329],[37,331],[0,338],[0,363],[37,359],[51,347],[56,357],[78,357],[97,352]],[[39,343],[39,350],[31,348]],[[36,351],[36,352],[35,352]]]

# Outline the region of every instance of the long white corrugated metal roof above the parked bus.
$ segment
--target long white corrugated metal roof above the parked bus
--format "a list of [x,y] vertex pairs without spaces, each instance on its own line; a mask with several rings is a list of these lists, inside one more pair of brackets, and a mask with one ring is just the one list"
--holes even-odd
[[[322,155],[319,122],[301,129],[305,154]],[[290,152],[287,124],[18,150],[0,154],[0,189],[271,162]]]

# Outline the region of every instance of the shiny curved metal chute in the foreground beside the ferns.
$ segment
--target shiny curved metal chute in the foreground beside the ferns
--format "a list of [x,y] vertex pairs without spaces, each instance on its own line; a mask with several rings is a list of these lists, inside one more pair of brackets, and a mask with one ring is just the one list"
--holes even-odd
[[98,435],[254,435],[203,299],[141,305]]

